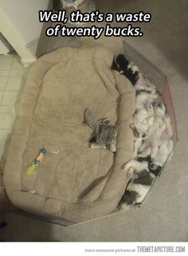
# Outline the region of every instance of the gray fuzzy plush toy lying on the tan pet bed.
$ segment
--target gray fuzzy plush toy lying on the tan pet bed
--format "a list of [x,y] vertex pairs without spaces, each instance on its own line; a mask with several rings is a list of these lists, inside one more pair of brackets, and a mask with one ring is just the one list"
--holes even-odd
[[109,124],[108,118],[97,120],[96,115],[89,108],[84,112],[84,123],[94,132],[94,136],[89,140],[91,148],[108,148],[111,152],[116,152],[118,132],[116,125]]

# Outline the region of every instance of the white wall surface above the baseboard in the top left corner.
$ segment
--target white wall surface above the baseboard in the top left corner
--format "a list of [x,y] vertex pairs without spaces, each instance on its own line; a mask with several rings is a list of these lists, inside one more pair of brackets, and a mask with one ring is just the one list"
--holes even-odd
[[46,10],[49,0],[0,0],[0,6],[15,28],[25,39],[25,44],[37,39],[42,23],[38,21],[38,10]]

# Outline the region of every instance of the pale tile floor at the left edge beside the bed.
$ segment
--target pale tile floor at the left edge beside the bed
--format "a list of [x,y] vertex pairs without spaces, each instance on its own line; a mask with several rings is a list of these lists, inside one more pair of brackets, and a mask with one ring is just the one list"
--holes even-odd
[[20,57],[0,55],[0,172],[15,120],[15,104],[22,92],[25,69]]

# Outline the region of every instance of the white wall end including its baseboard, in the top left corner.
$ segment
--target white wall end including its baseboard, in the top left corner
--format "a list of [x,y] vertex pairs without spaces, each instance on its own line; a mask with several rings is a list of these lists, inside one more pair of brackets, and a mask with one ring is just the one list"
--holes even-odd
[[42,23],[38,11],[46,10],[49,0],[0,0],[0,32],[27,66],[36,60],[36,44],[40,37]]

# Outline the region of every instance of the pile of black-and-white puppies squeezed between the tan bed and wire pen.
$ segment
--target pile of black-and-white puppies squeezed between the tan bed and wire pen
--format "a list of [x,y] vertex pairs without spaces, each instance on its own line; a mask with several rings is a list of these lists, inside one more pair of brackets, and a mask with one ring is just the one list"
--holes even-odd
[[151,83],[123,54],[114,57],[112,69],[127,77],[136,91],[136,111],[131,125],[135,136],[134,159],[123,165],[133,169],[119,208],[128,209],[143,202],[155,176],[158,176],[173,148],[170,117],[159,101],[155,85]]

